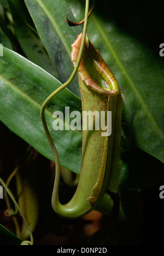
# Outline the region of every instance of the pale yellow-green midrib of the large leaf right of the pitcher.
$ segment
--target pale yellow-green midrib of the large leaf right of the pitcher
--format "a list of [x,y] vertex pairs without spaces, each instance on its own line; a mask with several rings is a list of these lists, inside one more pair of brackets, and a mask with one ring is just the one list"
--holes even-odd
[[108,41],[108,38],[106,36],[106,34],[103,32],[101,26],[99,26],[95,16],[92,14],[92,20],[93,22],[95,23],[96,27],[97,27],[97,30],[99,31],[99,33],[101,33],[103,39],[104,39],[104,42],[107,44],[107,47],[109,49],[109,51],[112,53],[116,63],[118,64],[119,68],[121,69],[122,72],[124,72],[125,74],[125,77],[128,81],[128,83],[130,84],[131,88],[133,89],[133,91],[135,92],[136,96],[138,97],[138,100],[140,101],[140,103],[142,104],[145,112],[147,113],[151,123],[153,124],[154,128],[157,130],[157,132],[160,134],[161,138],[164,140],[164,135],[160,129],[160,127],[156,124],[156,121],[154,120],[153,116],[150,114],[146,104],[144,103],[144,100],[142,98],[142,96],[140,96],[138,90],[136,89],[136,86],[134,85],[134,83],[132,82],[131,78],[130,78],[130,75],[128,74],[128,72],[126,71],[124,65],[122,65],[121,61],[119,60],[119,57],[116,55],[112,45],[109,43]]

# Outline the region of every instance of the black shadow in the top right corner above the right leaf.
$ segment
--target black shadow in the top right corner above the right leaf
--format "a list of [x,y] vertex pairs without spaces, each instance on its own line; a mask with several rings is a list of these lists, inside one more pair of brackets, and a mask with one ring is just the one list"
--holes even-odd
[[159,56],[164,42],[164,3],[161,1],[97,1],[95,12],[114,22],[122,33],[130,34]]

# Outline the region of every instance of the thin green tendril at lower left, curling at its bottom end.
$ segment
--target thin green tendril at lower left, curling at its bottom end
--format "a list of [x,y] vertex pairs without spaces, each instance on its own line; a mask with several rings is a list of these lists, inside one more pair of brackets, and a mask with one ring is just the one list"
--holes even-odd
[[28,229],[28,232],[30,234],[30,239],[31,241],[22,241],[21,245],[33,245],[33,235],[32,235],[32,232],[30,230],[30,227],[28,226],[27,222],[26,222],[26,219],[24,217],[24,214],[22,214],[21,210],[20,210],[20,207],[19,205],[17,204],[16,200],[15,200],[15,197],[13,195],[13,193],[10,191],[10,189],[8,188],[7,184],[3,181],[2,178],[0,178],[0,182],[1,184],[3,185],[4,189],[7,191],[8,195],[11,197],[11,200],[14,202],[14,205],[15,207],[17,208],[17,211],[19,211],[19,213],[21,214],[21,217],[22,219],[24,220],[26,226],[27,226],[27,229]]

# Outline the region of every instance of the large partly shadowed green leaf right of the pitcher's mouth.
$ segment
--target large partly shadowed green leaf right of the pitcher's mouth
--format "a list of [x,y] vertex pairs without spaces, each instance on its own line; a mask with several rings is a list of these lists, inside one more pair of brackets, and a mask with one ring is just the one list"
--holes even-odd
[[[75,18],[80,20],[84,3],[75,0],[66,2]],[[109,15],[111,9],[113,11]],[[145,23],[151,20],[148,6],[146,10],[137,20],[139,10],[137,6],[136,9],[133,7],[133,3],[97,1],[87,34],[114,73],[120,88],[125,89],[126,138],[134,146],[164,162],[164,63],[159,56],[159,38],[155,33],[153,37],[153,32]]]

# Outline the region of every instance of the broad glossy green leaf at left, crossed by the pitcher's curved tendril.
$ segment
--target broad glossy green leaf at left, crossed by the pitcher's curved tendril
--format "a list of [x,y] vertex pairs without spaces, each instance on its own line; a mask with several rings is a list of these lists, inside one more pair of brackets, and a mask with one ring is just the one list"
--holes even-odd
[[[0,57],[0,120],[46,158],[54,160],[40,119],[40,106],[52,91],[61,84],[42,68],[19,54],[4,48]],[[52,114],[56,110],[65,113],[80,110],[81,101],[68,89],[51,101],[46,110],[46,120],[54,139],[61,165],[80,173],[81,131],[54,131]],[[64,119],[65,121],[65,119]],[[67,125],[68,124],[64,124]],[[71,161],[70,161],[71,159]]]

